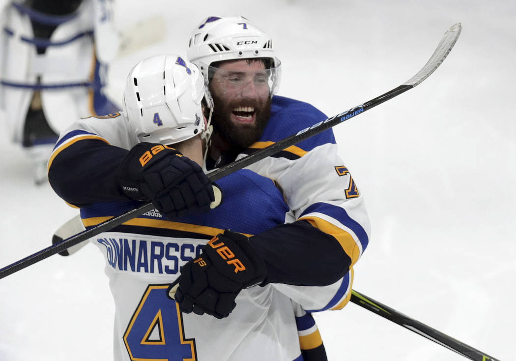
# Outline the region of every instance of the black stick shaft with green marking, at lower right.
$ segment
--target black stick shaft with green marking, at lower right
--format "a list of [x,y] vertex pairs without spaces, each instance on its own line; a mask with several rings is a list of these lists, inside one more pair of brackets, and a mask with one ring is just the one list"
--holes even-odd
[[351,302],[368,309],[371,312],[376,313],[377,315],[386,318],[394,323],[397,323],[400,326],[410,329],[410,331],[415,332],[423,337],[432,340],[433,342],[439,343],[441,346],[444,346],[451,351],[455,351],[458,354],[469,358],[474,361],[499,361],[498,359],[487,355],[484,352],[481,352],[477,349],[474,349],[467,344],[456,340],[453,337],[443,334],[442,332],[437,331],[430,326],[425,325],[419,321],[416,321],[401,312],[396,311],[388,306],[381,304],[378,301],[370,299],[364,294],[358,293],[355,290],[351,290]]

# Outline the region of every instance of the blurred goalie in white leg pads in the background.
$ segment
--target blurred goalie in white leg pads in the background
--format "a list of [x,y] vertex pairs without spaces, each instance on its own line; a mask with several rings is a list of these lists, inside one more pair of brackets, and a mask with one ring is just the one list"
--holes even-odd
[[110,5],[26,0],[12,1],[1,11],[0,121],[34,163],[36,184],[46,181],[47,160],[70,119],[119,108],[102,91],[112,56],[105,49],[116,33],[95,34],[109,26]]

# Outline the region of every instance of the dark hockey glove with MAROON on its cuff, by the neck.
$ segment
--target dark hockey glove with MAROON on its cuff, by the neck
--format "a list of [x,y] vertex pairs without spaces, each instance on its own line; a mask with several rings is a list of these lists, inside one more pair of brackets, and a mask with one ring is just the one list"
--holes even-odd
[[175,149],[140,143],[118,168],[122,192],[129,198],[151,200],[169,220],[195,211],[209,211],[212,183],[202,168]]

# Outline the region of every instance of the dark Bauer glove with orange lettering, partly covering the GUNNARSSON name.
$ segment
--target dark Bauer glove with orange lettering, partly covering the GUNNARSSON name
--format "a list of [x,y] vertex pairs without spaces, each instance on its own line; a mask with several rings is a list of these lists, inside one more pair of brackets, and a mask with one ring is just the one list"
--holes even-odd
[[235,308],[242,289],[261,284],[265,276],[265,263],[249,239],[225,230],[203,247],[198,258],[183,266],[174,298],[185,313],[221,319]]

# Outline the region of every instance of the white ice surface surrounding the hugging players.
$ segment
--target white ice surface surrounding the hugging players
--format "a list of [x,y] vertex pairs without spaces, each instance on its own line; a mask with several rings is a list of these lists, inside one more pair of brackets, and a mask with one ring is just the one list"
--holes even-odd
[[[353,288],[516,360],[513,0],[137,3],[120,10],[119,22],[164,16],[168,37],[115,64],[109,91],[118,99],[129,62],[185,53],[207,15],[242,14],[275,39],[279,94],[328,116],[408,80],[461,22],[454,50],[426,81],[334,128],[373,227]],[[29,160],[6,135],[0,174],[1,267],[49,246],[77,211],[49,184],[33,184]],[[103,262],[88,245],[1,279],[0,361],[111,359],[114,305]],[[331,361],[465,359],[352,303],[316,320]]]

